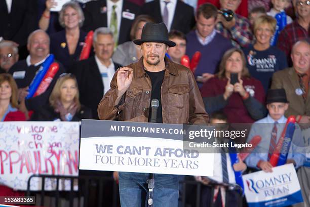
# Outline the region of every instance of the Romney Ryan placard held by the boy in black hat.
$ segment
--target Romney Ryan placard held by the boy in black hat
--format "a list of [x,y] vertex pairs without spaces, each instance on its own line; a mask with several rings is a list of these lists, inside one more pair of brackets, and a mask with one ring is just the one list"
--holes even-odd
[[282,207],[303,202],[293,164],[242,176],[249,207]]

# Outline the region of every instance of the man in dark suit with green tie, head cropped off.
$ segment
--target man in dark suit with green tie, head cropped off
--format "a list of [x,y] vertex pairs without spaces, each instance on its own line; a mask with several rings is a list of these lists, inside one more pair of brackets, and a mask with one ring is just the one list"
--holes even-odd
[[127,0],[98,0],[83,6],[85,21],[83,30],[109,27],[114,36],[115,47],[130,41],[130,29],[140,7]]

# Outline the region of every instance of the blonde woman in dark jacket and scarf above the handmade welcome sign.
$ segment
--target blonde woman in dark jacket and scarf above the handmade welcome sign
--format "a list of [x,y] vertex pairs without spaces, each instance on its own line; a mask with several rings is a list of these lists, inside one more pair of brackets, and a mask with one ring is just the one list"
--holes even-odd
[[49,98],[50,105],[43,106],[32,115],[31,120],[81,121],[92,118],[91,110],[79,101],[79,89],[74,75],[60,75]]

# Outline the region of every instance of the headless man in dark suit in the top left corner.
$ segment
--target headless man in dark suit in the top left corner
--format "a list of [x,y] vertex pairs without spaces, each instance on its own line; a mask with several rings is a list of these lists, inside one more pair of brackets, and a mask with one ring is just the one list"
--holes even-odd
[[24,53],[27,37],[37,27],[36,1],[12,0],[8,4],[6,0],[0,0],[0,36],[19,44]]

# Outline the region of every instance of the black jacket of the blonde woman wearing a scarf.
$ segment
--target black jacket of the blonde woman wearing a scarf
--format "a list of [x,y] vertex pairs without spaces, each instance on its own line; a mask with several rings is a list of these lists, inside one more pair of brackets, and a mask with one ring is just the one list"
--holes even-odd
[[[81,121],[82,118],[92,118],[92,111],[83,105],[79,111],[76,111],[71,121]],[[56,119],[61,120],[60,113],[55,112],[54,108],[50,105],[40,107],[31,116],[32,121],[54,121]]]

